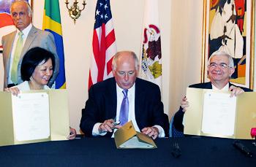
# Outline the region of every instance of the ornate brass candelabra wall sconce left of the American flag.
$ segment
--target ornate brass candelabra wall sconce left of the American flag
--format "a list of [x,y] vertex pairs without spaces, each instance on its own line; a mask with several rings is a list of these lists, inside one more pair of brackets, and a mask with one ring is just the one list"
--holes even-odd
[[77,20],[80,17],[82,10],[86,7],[86,1],[83,1],[83,9],[79,9],[77,0],[74,1],[73,5],[70,8],[68,7],[68,0],[66,0],[65,4],[67,6],[67,9],[69,10],[70,18],[72,18],[75,23],[75,20]]

